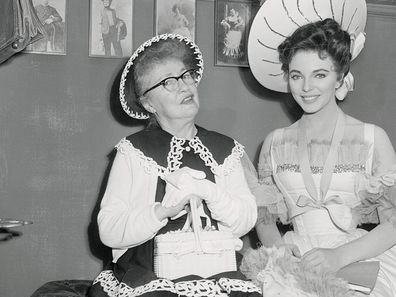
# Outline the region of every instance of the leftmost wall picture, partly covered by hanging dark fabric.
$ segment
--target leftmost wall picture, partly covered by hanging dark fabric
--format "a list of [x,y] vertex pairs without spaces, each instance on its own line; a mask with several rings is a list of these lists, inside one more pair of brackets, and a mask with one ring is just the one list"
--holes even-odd
[[23,51],[34,54],[66,55],[66,0],[33,0],[46,36],[29,44]]

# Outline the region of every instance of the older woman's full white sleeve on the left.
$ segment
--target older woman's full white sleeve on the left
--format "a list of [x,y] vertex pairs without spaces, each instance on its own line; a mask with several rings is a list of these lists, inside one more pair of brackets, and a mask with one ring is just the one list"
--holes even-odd
[[[130,153],[117,152],[100,205],[100,239],[111,248],[140,245],[153,238],[167,223],[166,219],[157,219],[154,213],[155,197],[148,197],[150,182],[147,179],[154,178],[156,181],[157,177],[143,174],[141,165],[132,160]],[[142,184],[139,185],[139,182]],[[154,196],[155,191],[150,194]]]

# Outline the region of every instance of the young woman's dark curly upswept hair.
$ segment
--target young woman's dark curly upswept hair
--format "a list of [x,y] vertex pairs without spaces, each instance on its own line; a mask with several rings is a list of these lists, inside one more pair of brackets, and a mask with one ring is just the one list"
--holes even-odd
[[325,19],[306,24],[287,37],[278,46],[279,60],[282,63],[282,70],[288,73],[289,64],[298,51],[316,51],[320,58],[332,59],[341,79],[349,71],[352,59],[350,47],[349,33],[333,19]]

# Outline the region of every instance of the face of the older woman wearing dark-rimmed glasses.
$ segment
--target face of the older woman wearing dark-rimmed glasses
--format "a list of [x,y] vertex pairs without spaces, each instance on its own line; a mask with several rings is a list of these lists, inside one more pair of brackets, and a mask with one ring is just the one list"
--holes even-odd
[[[184,63],[178,59],[168,59],[147,70],[141,79],[142,89],[147,90],[167,77],[179,77],[186,70]],[[185,79],[186,80],[186,79]],[[161,123],[175,120],[191,121],[199,109],[199,98],[195,83],[186,83],[180,78],[175,91],[159,85],[146,92],[140,99],[144,108],[154,113]]]

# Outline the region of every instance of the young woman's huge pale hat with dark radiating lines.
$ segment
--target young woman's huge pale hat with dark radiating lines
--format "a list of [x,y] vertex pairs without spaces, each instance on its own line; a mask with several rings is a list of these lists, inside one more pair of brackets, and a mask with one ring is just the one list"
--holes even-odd
[[[253,20],[248,39],[249,65],[257,81],[268,89],[289,92],[278,46],[297,28],[326,18],[334,19],[350,34],[355,59],[365,42],[365,0],[266,0]],[[349,72],[336,97],[343,100],[351,90],[353,77]]]

